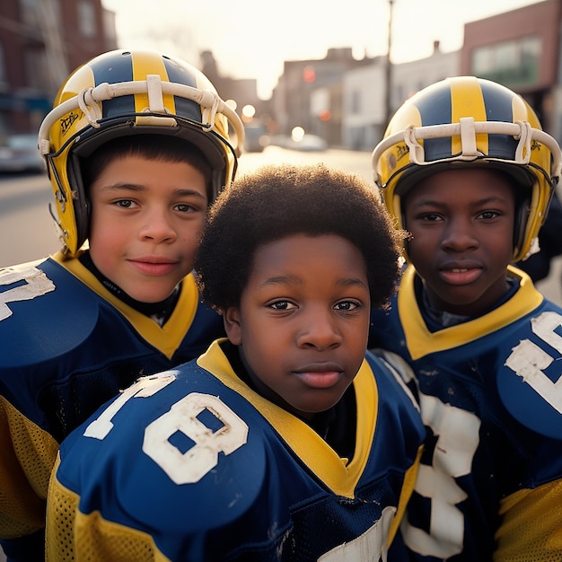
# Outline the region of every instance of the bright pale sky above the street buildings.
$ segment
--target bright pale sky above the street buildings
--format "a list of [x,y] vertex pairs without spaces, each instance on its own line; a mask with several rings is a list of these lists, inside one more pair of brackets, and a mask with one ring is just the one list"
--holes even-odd
[[[463,25],[539,0],[394,0],[393,63],[429,57],[435,40],[461,48]],[[256,78],[268,99],[285,60],[321,59],[331,47],[356,58],[388,48],[389,0],[101,0],[116,13],[122,48],[150,47],[198,66],[211,50],[219,71]]]

